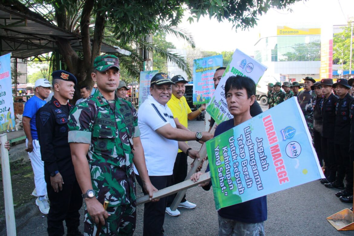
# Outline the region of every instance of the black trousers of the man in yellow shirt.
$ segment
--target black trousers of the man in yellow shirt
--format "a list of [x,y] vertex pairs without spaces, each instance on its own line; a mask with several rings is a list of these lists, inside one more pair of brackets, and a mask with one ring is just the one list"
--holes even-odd
[[[185,180],[185,177],[187,177],[187,170],[188,170],[187,158],[188,156],[185,155],[184,152],[178,152],[176,156],[175,166],[173,166],[171,185],[181,183]],[[167,197],[167,207],[171,206],[176,195],[177,194],[172,194]],[[185,202],[185,201],[187,200],[185,199],[185,194],[184,194],[181,202]]]

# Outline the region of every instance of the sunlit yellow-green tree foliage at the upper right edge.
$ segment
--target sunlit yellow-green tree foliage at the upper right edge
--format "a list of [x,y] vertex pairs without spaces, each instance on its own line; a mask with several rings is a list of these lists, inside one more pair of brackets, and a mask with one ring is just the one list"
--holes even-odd
[[[350,34],[351,34],[351,26],[348,25],[341,33],[334,34],[333,36],[333,61],[337,61],[338,64],[341,64],[343,62],[344,70],[349,69]],[[352,70],[354,69],[353,62],[354,62],[354,53],[352,55]]]

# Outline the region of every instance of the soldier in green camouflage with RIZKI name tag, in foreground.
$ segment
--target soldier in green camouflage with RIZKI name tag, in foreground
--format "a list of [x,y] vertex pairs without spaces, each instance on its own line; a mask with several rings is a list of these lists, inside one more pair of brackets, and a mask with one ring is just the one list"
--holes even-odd
[[[85,235],[97,231],[100,235],[132,235],[136,224],[133,162],[149,196],[157,190],[145,166],[137,112],[115,94],[120,78],[118,58],[96,57],[93,68],[91,77],[98,90],[70,112],[68,122],[75,174],[86,202],[84,231]],[[109,202],[107,211],[105,201]]]

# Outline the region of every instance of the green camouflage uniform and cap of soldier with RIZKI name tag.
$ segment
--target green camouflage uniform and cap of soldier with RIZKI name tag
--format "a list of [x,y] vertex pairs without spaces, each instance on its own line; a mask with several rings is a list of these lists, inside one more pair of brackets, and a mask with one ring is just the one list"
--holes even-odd
[[[119,69],[113,55],[97,57],[93,67]],[[96,198],[109,201],[107,224],[100,235],[132,235],[136,224],[136,188],[133,172],[133,137],[140,136],[137,111],[130,102],[106,100],[99,90],[70,112],[69,143],[90,144],[87,159]],[[97,226],[85,209],[85,234],[95,235]]]

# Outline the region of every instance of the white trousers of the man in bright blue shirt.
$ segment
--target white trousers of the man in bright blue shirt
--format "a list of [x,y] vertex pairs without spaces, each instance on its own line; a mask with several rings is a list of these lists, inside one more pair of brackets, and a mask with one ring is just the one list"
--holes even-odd
[[[33,151],[27,152],[29,159],[31,160],[32,169],[34,173],[34,185],[36,186],[37,195],[44,196],[47,194],[47,184],[44,180],[44,162],[41,159],[41,149],[38,139],[32,141]],[[26,139],[26,146],[28,145],[28,139]]]

